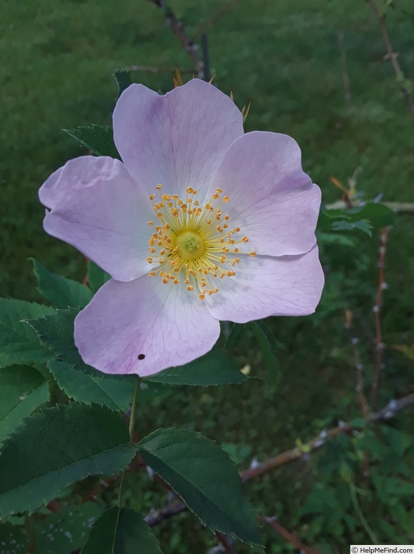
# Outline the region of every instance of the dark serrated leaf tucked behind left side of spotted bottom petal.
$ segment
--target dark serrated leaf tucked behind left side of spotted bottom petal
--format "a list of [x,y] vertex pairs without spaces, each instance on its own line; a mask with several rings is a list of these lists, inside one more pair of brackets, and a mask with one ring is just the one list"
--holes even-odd
[[107,375],[84,363],[73,339],[73,325],[79,308],[69,307],[67,310],[55,310],[51,315],[40,319],[30,319],[30,325],[37,337],[55,354],[73,368],[102,379],[134,379],[131,375]]

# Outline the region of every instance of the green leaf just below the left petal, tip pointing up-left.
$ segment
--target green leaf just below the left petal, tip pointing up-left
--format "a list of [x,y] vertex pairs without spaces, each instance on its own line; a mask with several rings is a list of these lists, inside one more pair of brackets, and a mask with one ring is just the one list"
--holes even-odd
[[33,261],[33,270],[37,278],[39,291],[54,307],[66,308],[68,306],[85,307],[92,299],[89,287],[72,279],[66,279],[48,271],[42,264]]

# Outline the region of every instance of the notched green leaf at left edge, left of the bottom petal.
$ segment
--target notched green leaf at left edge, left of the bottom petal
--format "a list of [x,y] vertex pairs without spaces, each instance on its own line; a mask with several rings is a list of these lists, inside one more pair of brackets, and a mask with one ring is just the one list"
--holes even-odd
[[0,298],[0,367],[50,358],[26,320],[53,314],[53,307]]

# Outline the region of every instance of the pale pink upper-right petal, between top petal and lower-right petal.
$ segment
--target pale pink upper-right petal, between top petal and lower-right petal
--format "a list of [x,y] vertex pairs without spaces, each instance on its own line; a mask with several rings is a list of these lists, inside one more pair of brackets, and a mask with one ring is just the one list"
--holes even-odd
[[314,244],[321,190],[301,166],[300,148],[285,134],[251,132],[224,154],[208,195],[221,188],[231,226],[264,256],[308,252]]

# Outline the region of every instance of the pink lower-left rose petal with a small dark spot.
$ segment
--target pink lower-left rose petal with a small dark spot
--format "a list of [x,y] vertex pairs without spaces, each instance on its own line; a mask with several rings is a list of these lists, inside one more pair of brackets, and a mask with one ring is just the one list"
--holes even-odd
[[197,294],[150,276],[109,280],[75,319],[75,344],[87,364],[141,377],[206,354],[219,333]]

